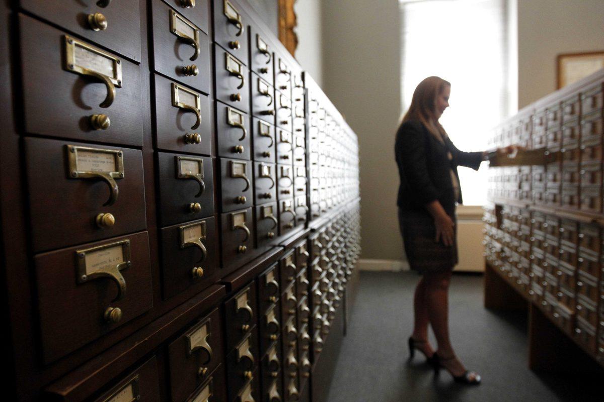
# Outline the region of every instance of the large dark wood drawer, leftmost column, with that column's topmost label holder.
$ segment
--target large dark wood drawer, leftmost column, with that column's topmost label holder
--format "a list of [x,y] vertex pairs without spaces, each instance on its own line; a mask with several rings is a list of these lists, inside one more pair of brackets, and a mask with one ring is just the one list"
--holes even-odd
[[[49,7],[55,7],[55,2],[48,3]],[[117,4],[111,7],[121,8]],[[19,24],[27,133],[143,145],[141,78],[137,64],[31,17],[19,15]],[[91,63],[111,65],[111,74]],[[83,71],[82,68],[91,69],[90,74],[76,72]],[[111,93],[113,98],[109,96]]]

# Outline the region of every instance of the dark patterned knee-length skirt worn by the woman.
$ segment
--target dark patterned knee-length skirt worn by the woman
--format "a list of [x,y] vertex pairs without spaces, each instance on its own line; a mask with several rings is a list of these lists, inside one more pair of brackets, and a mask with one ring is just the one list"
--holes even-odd
[[436,227],[434,219],[425,210],[399,208],[399,227],[405,244],[405,253],[411,269],[426,272],[452,271],[459,262],[457,256],[457,221],[455,213],[449,213],[455,222],[455,235],[452,246],[445,246],[442,240],[435,242]]

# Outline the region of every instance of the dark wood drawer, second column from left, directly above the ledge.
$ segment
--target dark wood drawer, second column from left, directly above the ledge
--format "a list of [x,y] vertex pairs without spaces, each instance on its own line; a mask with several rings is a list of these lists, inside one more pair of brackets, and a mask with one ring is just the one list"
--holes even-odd
[[201,291],[220,278],[216,225],[216,219],[210,216],[161,229],[164,298],[191,286]]

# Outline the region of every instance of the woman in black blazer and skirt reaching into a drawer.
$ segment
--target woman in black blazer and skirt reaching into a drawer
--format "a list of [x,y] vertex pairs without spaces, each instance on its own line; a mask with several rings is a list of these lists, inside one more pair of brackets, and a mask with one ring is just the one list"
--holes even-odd
[[[481,378],[467,371],[449,339],[448,289],[458,263],[455,203],[461,204],[457,166],[478,170],[489,153],[461,152],[451,142],[439,118],[449,107],[451,84],[439,77],[423,80],[396,134],[400,187],[399,224],[411,269],[422,275],[414,295],[414,330],[409,338],[425,354],[435,372],[445,368],[455,381],[477,385]],[[512,152],[512,148],[501,149]],[[428,342],[432,325],[438,350]]]

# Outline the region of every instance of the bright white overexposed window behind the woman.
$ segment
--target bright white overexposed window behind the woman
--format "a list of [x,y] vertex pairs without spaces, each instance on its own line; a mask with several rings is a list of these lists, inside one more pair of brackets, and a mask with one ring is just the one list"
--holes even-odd
[[[423,78],[451,83],[440,122],[457,148],[483,151],[509,115],[506,0],[399,0],[402,11],[402,106]],[[464,204],[487,201],[487,169],[459,168]]]

